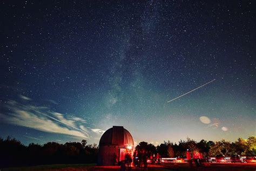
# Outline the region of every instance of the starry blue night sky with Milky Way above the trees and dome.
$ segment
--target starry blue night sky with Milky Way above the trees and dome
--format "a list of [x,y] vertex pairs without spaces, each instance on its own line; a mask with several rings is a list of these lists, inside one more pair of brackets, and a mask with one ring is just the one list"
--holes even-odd
[[255,135],[255,11],[254,1],[1,1],[0,137],[98,144],[113,125],[154,145]]

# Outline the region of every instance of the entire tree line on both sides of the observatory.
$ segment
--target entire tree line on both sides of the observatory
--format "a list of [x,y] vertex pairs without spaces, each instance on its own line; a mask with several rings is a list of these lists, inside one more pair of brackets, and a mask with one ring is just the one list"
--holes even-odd
[[[96,163],[98,145],[88,145],[82,142],[48,142],[44,145],[30,143],[25,146],[15,138],[0,138],[0,167],[30,166],[61,163]],[[177,143],[164,141],[158,146],[152,143],[140,142],[135,149],[144,151],[147,156],[159,153],[162,158],[185,156],[186,150],[199,151],[207,156],[216,155],[246,155],[256,156],[256,136],[247,139],[239,138],[235,142],[226,140],[206,141],[187,138]]]

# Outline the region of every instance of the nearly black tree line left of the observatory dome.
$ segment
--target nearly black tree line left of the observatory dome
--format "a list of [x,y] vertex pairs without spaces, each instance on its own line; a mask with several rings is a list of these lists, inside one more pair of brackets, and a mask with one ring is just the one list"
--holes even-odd
[[0,168],[62,163],[96,163],[98,146],[82,142],[30,143],[25,146],[15,138],[0,138]]

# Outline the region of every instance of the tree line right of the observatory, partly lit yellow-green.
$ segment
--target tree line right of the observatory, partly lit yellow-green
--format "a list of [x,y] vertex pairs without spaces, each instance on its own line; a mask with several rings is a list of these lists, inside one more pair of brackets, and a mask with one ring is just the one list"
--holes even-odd
[[203,153],[204,156],[255,156],[256,136],[249,136],[248,139],[239,138],[235,142],[224,139],[215,142],[206,140],[197,142],[196,140],[187,138],[186,140],[180,140],[178,144],[171,141],[164,141],[164,143],[158,146],[143,141],[135,149],[138,152],[146,151],[148,156],[159,153],[162,158],[185,157],[187,149],[190,152],[198,151]]

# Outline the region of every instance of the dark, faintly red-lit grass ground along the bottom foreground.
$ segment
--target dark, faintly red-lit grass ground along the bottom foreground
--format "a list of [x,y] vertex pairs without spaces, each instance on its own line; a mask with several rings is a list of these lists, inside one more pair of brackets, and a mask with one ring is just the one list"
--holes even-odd
[[[21,168],[4,168],[0,171],[119,171],[120,166],[96,166],[96,164],[78,165],[41,165]],[[201,167],[189,166],[187,163],[170,165],[149,165],[148,168],[126,168],[126,171],[256,171],[256,165],[244,164],[210,164]]]

